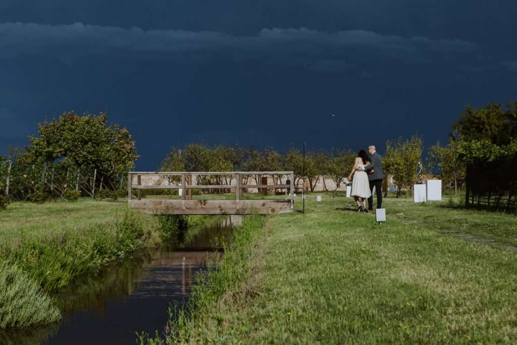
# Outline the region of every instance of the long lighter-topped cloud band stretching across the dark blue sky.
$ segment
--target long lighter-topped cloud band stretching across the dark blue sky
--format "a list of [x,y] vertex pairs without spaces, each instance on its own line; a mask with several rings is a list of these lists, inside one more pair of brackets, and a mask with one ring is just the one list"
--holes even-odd
[[[0,56],[51,55],[68,62],[88,55],[161,58],[183,63],[216,58],[234,62],[260,59],[266,64],[343,73],[391,64],[454,65],[474,61],[479,53],[480,47],[469,41],[380,35],[364,30],[326,33],[308,28],[263,28],[254,36],[236,36],[214,31],[145,31],[138,27],[83,23],[0,24]],[[191,55],[197,59],[185,58]]]

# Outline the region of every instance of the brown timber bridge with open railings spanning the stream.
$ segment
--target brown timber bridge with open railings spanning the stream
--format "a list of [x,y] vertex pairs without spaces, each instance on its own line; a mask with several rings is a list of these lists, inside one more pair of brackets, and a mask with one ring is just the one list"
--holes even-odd
[[[168,185],[142,185],[142,175],[181,176],[181,185],[173,184],[169,178]],[[230,182],[235,179],[235,184],[230,185],[196,185],[192,183],[192,176],[199,175],[230,175]],[[176,215],[244,215],[244,214],[272,214],[294,211],[294,190],[287,184],[242,184],[242,177],[249,175],[276,175],[288,176],[294,181],[292,171],[275,172],[131,172],[128,174],[128,202],[129,207],[150,214],[176,214]],[[233,176],[233,177],[232,177]],[[136,181],[134,181],[136,179]],[[135,184],[134,184],[135,182]],[[268,188],[291,188],[290,197],[287,200],[261,199],[243,200],[242,191],[249,188],[264,190]],[[138,198],[132,198],[132,190],[138,191]],[[144,189],[180,189],[181,200],[174,199],[142,199],[141,191]],[[230,189],[235,190],[235,200],[192,200],[192,189]]]

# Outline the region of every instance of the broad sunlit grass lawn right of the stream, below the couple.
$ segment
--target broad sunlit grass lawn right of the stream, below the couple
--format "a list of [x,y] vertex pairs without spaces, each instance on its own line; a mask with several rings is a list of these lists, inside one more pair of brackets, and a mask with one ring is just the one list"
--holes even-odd
[[443,231],[511,243],[515,214],[388,198],[379,225],[351,199],[307,198],[305,215],[250,224],[168,342],[517,341],[517,253]]

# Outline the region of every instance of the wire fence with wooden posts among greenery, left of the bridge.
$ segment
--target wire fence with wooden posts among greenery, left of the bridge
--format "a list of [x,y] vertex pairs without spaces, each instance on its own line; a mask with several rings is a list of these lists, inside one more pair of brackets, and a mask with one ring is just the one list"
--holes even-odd
[[[12,200],[68,199],[123,196],[127,174],[105,175],[97,169],[78,169],[60,163],[0,161],[0,194]],[[75,192],[72,192],[75,191]]]

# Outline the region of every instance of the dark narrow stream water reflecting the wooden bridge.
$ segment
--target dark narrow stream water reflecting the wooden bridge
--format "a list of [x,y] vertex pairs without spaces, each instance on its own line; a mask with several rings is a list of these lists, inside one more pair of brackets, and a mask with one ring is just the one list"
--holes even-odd
[[214,245],[239,221],[214,217],[202,230],[185,230],[180,243],[80,279],[56,294],[62,322],[1,331],[0,345],[135,344],[135,332],[161,333],[169,305],[188,299],[196,275],[222,256]]

